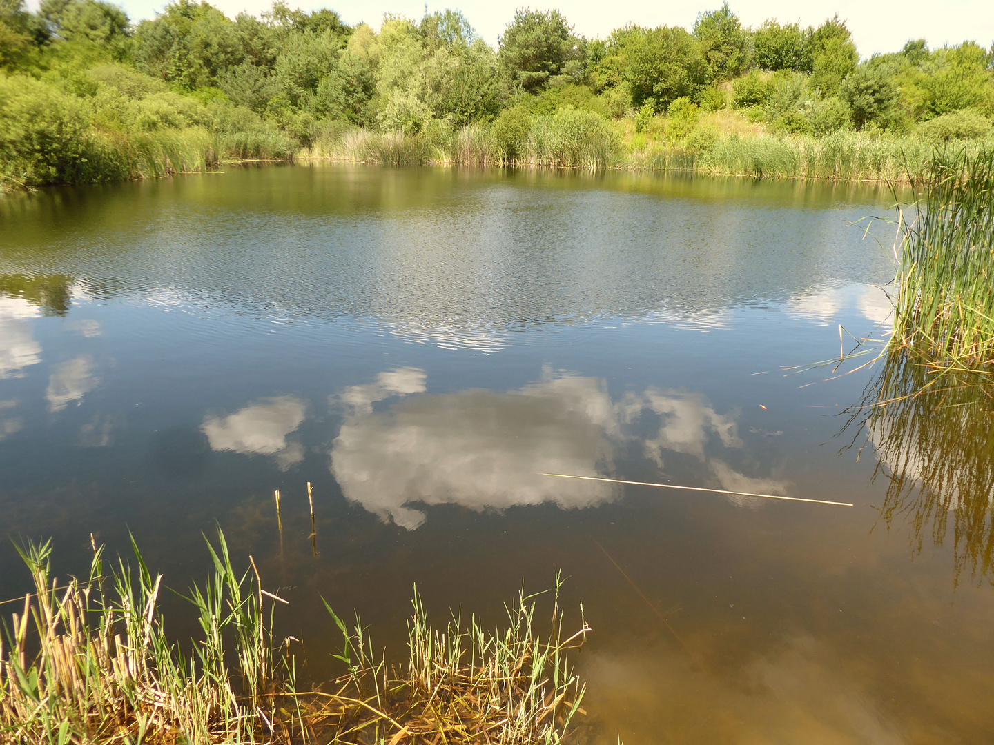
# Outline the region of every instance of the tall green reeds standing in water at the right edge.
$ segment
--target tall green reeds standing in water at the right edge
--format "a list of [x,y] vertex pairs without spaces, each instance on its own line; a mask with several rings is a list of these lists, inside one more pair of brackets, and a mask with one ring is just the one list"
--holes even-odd
[[894,340],[933,364],[994,365],[994,148],[936,153],[911,186]]

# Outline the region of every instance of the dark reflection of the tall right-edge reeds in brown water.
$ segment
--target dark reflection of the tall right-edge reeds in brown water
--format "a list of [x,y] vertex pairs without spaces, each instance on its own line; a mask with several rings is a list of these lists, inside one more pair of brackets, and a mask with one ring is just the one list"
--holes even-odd
[[877,450],[876,480],[888,481],[882,517],[911,524],[920,550],[946,539],[956,578],[994,568],[994,384],[989,373],[937,369],[892,350],[847,423]]

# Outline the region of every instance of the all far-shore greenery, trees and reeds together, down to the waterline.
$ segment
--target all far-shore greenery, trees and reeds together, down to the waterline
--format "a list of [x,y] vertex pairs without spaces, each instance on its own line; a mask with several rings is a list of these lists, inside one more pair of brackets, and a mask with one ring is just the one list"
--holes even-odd
[[844,21],[585,39],[519,10],[496,48],[457,11],[374,29],[277,2],[0,0],[0,191],[341,160],[908,182],[994,147],[994,45],[861,60]]

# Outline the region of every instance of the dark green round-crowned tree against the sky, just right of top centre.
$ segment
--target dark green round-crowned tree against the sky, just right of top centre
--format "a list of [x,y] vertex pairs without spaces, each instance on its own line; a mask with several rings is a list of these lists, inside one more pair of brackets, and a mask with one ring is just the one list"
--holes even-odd
[[525,90],[580,75],[580,39],[558,10],[519,9],[499,44],[501,68]]

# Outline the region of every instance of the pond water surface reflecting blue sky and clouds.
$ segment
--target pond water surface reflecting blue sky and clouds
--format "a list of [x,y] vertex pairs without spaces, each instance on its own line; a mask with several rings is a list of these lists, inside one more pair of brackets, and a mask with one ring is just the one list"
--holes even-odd
[[0,598],[29,589],[11,539],[65,576],[130,530],[185,590],[220,525],[319,678],[320,597],[403,659],[414,583],[496,625],[559,568],[604,742],[989,742],[994,597],[959,538],[990,483],[949,482],[981,516],[941,533],[891,477],[973,473],[990,428],[843,431],[878,369],[780,371],[883,335],[892,227],[855,223],[891,200],[363,166],[3,198]]

